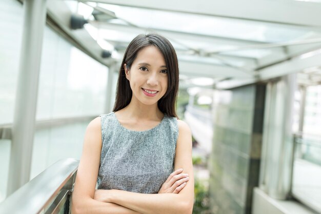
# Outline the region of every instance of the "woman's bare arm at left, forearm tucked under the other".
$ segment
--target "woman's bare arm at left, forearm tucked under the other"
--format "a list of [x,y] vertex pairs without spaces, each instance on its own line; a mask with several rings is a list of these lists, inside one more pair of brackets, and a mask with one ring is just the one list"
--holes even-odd
[[79,163],[72,197],[72,213],[92,214],[138,214],[129,208],[94,200],[95,186],[99,170],[102,132],[100,118],[94,119],[87,127],[83,154]]

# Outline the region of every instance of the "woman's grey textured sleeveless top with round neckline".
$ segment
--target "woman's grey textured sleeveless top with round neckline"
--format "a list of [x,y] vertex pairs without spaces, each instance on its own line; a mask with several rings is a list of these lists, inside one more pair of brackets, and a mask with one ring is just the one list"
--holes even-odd
[[165,115],[152,129],[132,131],[119,123],[114,112],[100,117],[103,145],[98,189],[157,193],[173,172],[177,119]]

